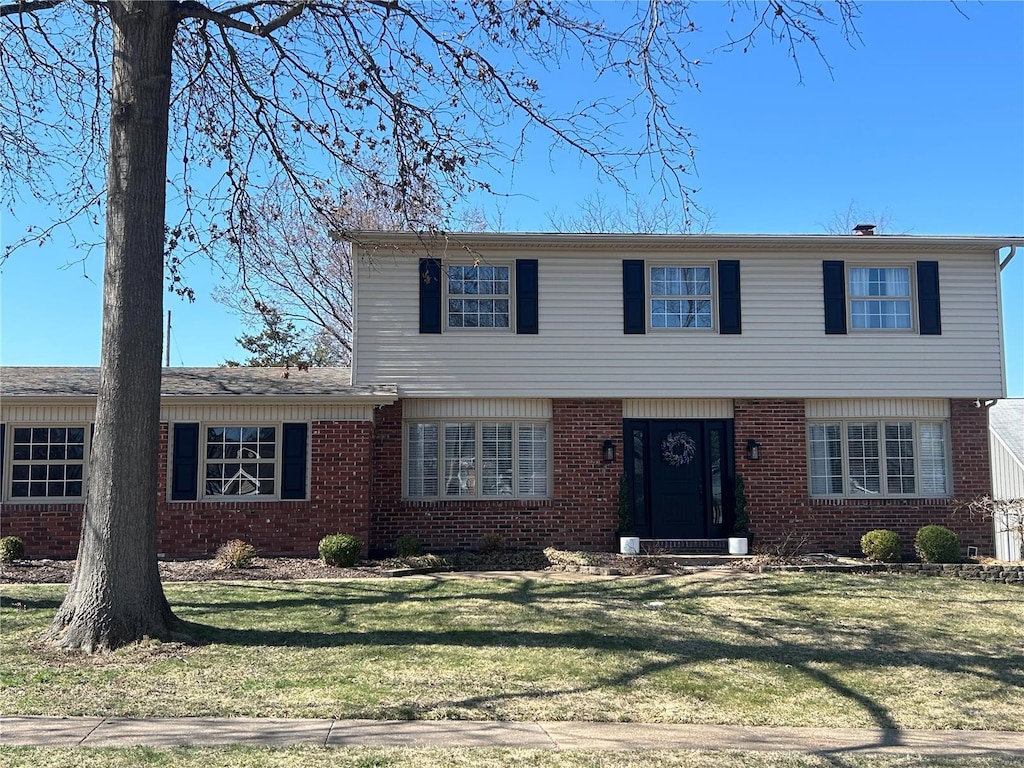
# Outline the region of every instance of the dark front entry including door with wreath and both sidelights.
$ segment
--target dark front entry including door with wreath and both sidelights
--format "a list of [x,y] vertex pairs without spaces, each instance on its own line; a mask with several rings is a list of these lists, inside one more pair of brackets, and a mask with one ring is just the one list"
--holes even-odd
[[651,539],[727,536],[731,421],[631,419],[625,427],[635,531]]

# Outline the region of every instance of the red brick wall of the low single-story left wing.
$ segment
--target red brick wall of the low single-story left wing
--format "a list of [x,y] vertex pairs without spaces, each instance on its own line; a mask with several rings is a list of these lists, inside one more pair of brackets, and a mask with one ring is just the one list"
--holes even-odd
[[[309,556],[329,534],[370,540],[369,422],[310,425],[310,498],[278,502],[167,501],[167,424],[160,427],[158,551],[167,557],[209,556],[242,539],[261,555]],[[4,535],[25,540],[30,557],[74,557],[83,505],[7,504]]]

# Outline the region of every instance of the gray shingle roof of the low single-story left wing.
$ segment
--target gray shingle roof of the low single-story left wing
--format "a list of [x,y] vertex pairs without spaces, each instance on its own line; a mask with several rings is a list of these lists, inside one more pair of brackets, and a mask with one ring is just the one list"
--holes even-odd
[[[286,376],[287,373],[287,376]],[[366,397],[390,401],[397,397],[394,384],[352,386],[348,368],[165,368],[161,392],[165,397],[216,395]],[[0,397],[94,397],[98,368],[0,368]]]

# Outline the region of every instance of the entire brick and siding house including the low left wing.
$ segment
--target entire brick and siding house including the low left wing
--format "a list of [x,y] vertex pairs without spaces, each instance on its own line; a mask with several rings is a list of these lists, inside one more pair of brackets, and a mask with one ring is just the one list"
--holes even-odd
[[[855,554],[990,493],[999,249],[892,236],[360,232],[351,371],[168,369],[160,550],[717,549]],[[94,370],[0,375],[4,532],[73,555]]]

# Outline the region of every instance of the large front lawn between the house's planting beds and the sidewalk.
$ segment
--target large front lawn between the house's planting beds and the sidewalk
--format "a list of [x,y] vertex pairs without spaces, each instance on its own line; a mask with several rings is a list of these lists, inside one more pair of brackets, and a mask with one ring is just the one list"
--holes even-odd
[[1019,587],[776,573],[166,589],[199,644],[88,657],[38,640],[63,588],[5,587],[0,712],[1024,729]]

